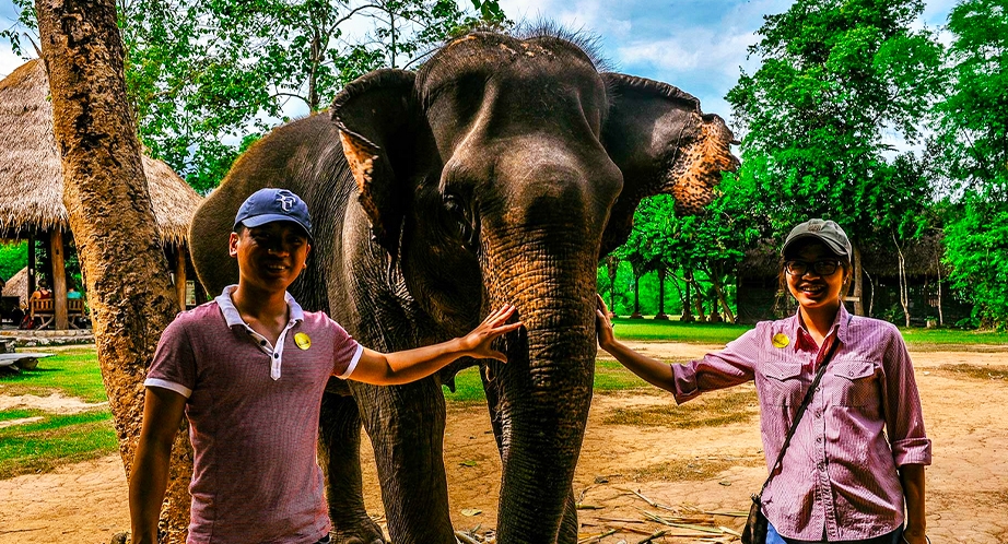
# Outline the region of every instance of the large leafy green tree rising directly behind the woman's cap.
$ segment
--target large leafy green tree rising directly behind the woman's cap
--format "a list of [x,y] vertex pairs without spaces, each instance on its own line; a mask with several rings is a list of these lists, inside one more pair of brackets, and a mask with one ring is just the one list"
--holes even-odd
[[749,48],[762,64],[728,93],[745,132],[739,176],[759,189],[753,212],[783,238],[800,221],[832,218],[859,247],[889,237],[874,227],[892,197],[883,131],[907,142],[941,90],[941,47],[913,31],[922,0],[802,0],[765,16]]

